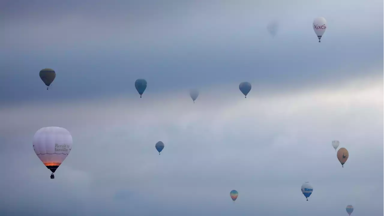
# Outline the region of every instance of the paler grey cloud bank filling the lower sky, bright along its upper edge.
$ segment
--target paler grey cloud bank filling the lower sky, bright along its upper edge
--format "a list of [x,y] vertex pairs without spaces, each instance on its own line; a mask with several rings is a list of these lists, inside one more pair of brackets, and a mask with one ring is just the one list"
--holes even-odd
[[[379,215],[384,90],[382,81],[356,83],[269,97],[251,91],[247,99],[229,95],[238,98],[233,103],[201,95],[193,104],[172,94],[2,108],[7,177],[0,185],[8,207],[0,209],[22,214],[11,207],[17,200],[40,212],[65,203],[73,207],[63,211],[75,215],[332,216],[353,204],[360,214]],[[67,128],[74,140],[55,181],[31,147],[33,133],[49,125]],[[351,155],[344,168],[331,146],[335,138]],[[159,140],[162,155],[154,148]],[[308,202],[300,193],[304,181],[314,185]],[[235,205],[232,189],[240,194]],[[48,201],[51,191],[61,195]],[[117,191],[133,197],[116,200]]]

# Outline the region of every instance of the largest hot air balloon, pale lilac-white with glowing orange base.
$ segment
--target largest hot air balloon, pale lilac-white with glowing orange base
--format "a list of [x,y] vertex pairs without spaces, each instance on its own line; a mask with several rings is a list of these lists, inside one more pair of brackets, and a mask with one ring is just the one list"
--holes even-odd
[[33,150],[44,165],[52,171],[51,179],[55,178],[53,173],[63,163],[71,149],[72,136],[65,128],[40,128],[33,136]]

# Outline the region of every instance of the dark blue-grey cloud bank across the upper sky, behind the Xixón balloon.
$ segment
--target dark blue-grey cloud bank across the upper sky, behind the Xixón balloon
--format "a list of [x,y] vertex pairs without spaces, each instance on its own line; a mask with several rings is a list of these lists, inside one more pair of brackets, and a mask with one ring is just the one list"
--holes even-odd
[[[137,78],[149,81],[145,94],[245,80],[258,90],[290,91],[372,75],[377,73],[372,67],[382,68],[377,44],[383,32],[375,27],[380,7],[368,2],[331,7],[343,13],[323,10],[327,1],[316,1],[316,7],[296,1],[283,11],[253,1],[17,3],[8,2],[7,11],[34,15],[16,22],[10,12],[5,14],[7,34],[1,37],[7,43],[0,52],[4,103],[133,95]],[[356,11],[358,7],[367,10]],[[39,17],[44,15],[39,8],[58,15]],[[329,22],[321,44],[310,27],[318,13]],[[273,40],[265,29],[272,19],[281,23]],[[57,71],[55,93],[42,91],[37,74],[46,67]]]

